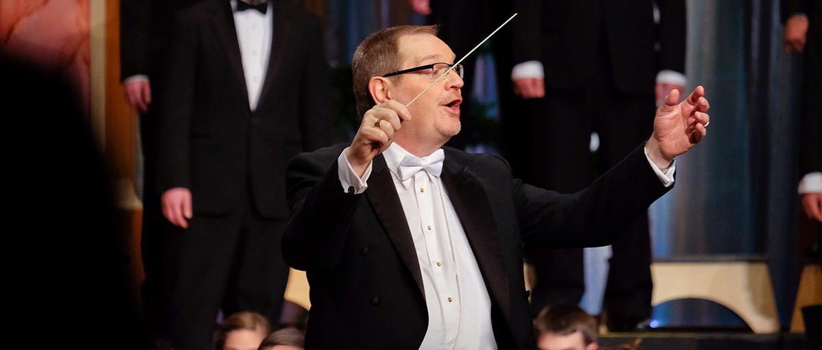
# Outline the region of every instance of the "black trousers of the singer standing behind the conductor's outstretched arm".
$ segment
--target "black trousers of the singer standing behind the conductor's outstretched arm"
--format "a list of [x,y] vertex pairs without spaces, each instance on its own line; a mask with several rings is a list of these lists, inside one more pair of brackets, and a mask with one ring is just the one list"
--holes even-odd
[[[618,91],[604,41],[600,46],[599,62],[591,67],[587,84],[576,90],[546,89],[543,99],[520,100],[530,119],[520,126],[521,132],[531,133],[530,151],[520,154],[529,160],[523,174],[529,183],[566,193],[579,191],[651,135],[653,85],[643,96]],[[595,154],[589,150],[592,131],[600,140]],[[615,325],[635,325],[651,315],[647,215],[622,233],[612,250],[604,308]],[[525,256],[537,274],[533,315],[557,302],[580,302],[585,288],[582,249],[532,247]]]

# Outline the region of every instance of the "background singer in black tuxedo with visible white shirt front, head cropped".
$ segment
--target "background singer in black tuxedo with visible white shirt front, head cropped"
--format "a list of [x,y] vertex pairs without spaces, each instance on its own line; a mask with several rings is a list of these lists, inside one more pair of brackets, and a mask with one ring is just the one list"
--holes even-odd
[[180,12],[159,164],[178,350],[209,348],[218,309],[279,324],[285,164],[330,128],[321,43],[317,21],[288,2],[210,0]]

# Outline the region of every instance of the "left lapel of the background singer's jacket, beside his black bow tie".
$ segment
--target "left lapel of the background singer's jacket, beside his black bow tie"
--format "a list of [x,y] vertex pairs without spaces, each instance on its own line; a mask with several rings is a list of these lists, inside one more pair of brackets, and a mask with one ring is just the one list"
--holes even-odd
[[[234,27],[234,16],[231,11],[230,2],[215,2],[215,11],[211,16],[211,26],[217,35],[219,43],[223,46],[225,55],[229,58],[229,66],[242,89],[243,96],[248,100],[248,88],[246,86],[245,74],[242,71],[242,58],[240,57],[240,44],[237,39],[237,30]],[[246,104],[247,105],[247,104]]]

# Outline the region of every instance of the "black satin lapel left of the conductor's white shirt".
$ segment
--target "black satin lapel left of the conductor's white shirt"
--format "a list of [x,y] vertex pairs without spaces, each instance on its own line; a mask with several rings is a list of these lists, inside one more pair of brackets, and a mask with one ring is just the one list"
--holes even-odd
[[419,291],[425,297],[423,273],[420,272],[417,249],[413,245],[408,219],[405,218],[403,205],[399,201],[397,189],[394,187],[391,173],[386,166],[386,159],[382,155],[376,156],[373,160],[371,177],[368,178],[368,190],[365,193],[382,228],[388,233],[399,256],[413,275],[414,281],[417,282]]

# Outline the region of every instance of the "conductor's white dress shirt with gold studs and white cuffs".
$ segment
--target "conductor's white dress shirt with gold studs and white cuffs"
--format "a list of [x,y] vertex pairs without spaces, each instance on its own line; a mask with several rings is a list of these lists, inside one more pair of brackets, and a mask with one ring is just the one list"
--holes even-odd
[[[443,151],[437,150],[419,159],[419,163],[429,163],[437,152]],[[424,170],[407,179],[400,177],[398,169],[404,158],[417,157],[396,143],[382,154],[403,206],[423,275],[428,328],[420,349],[496,349],[491,298],[441,178]],[[647,151],[645,156],[648,158]],[[648,161],[660,181],[671,186],[675,164],[663,173],[650,158]],[[354,194],[363,193],[368,188],[372,164],[368,164],[363,177],[358,177],[343,150],[337,159],[343,191],[351,192],[349,188],[353,188]]]

